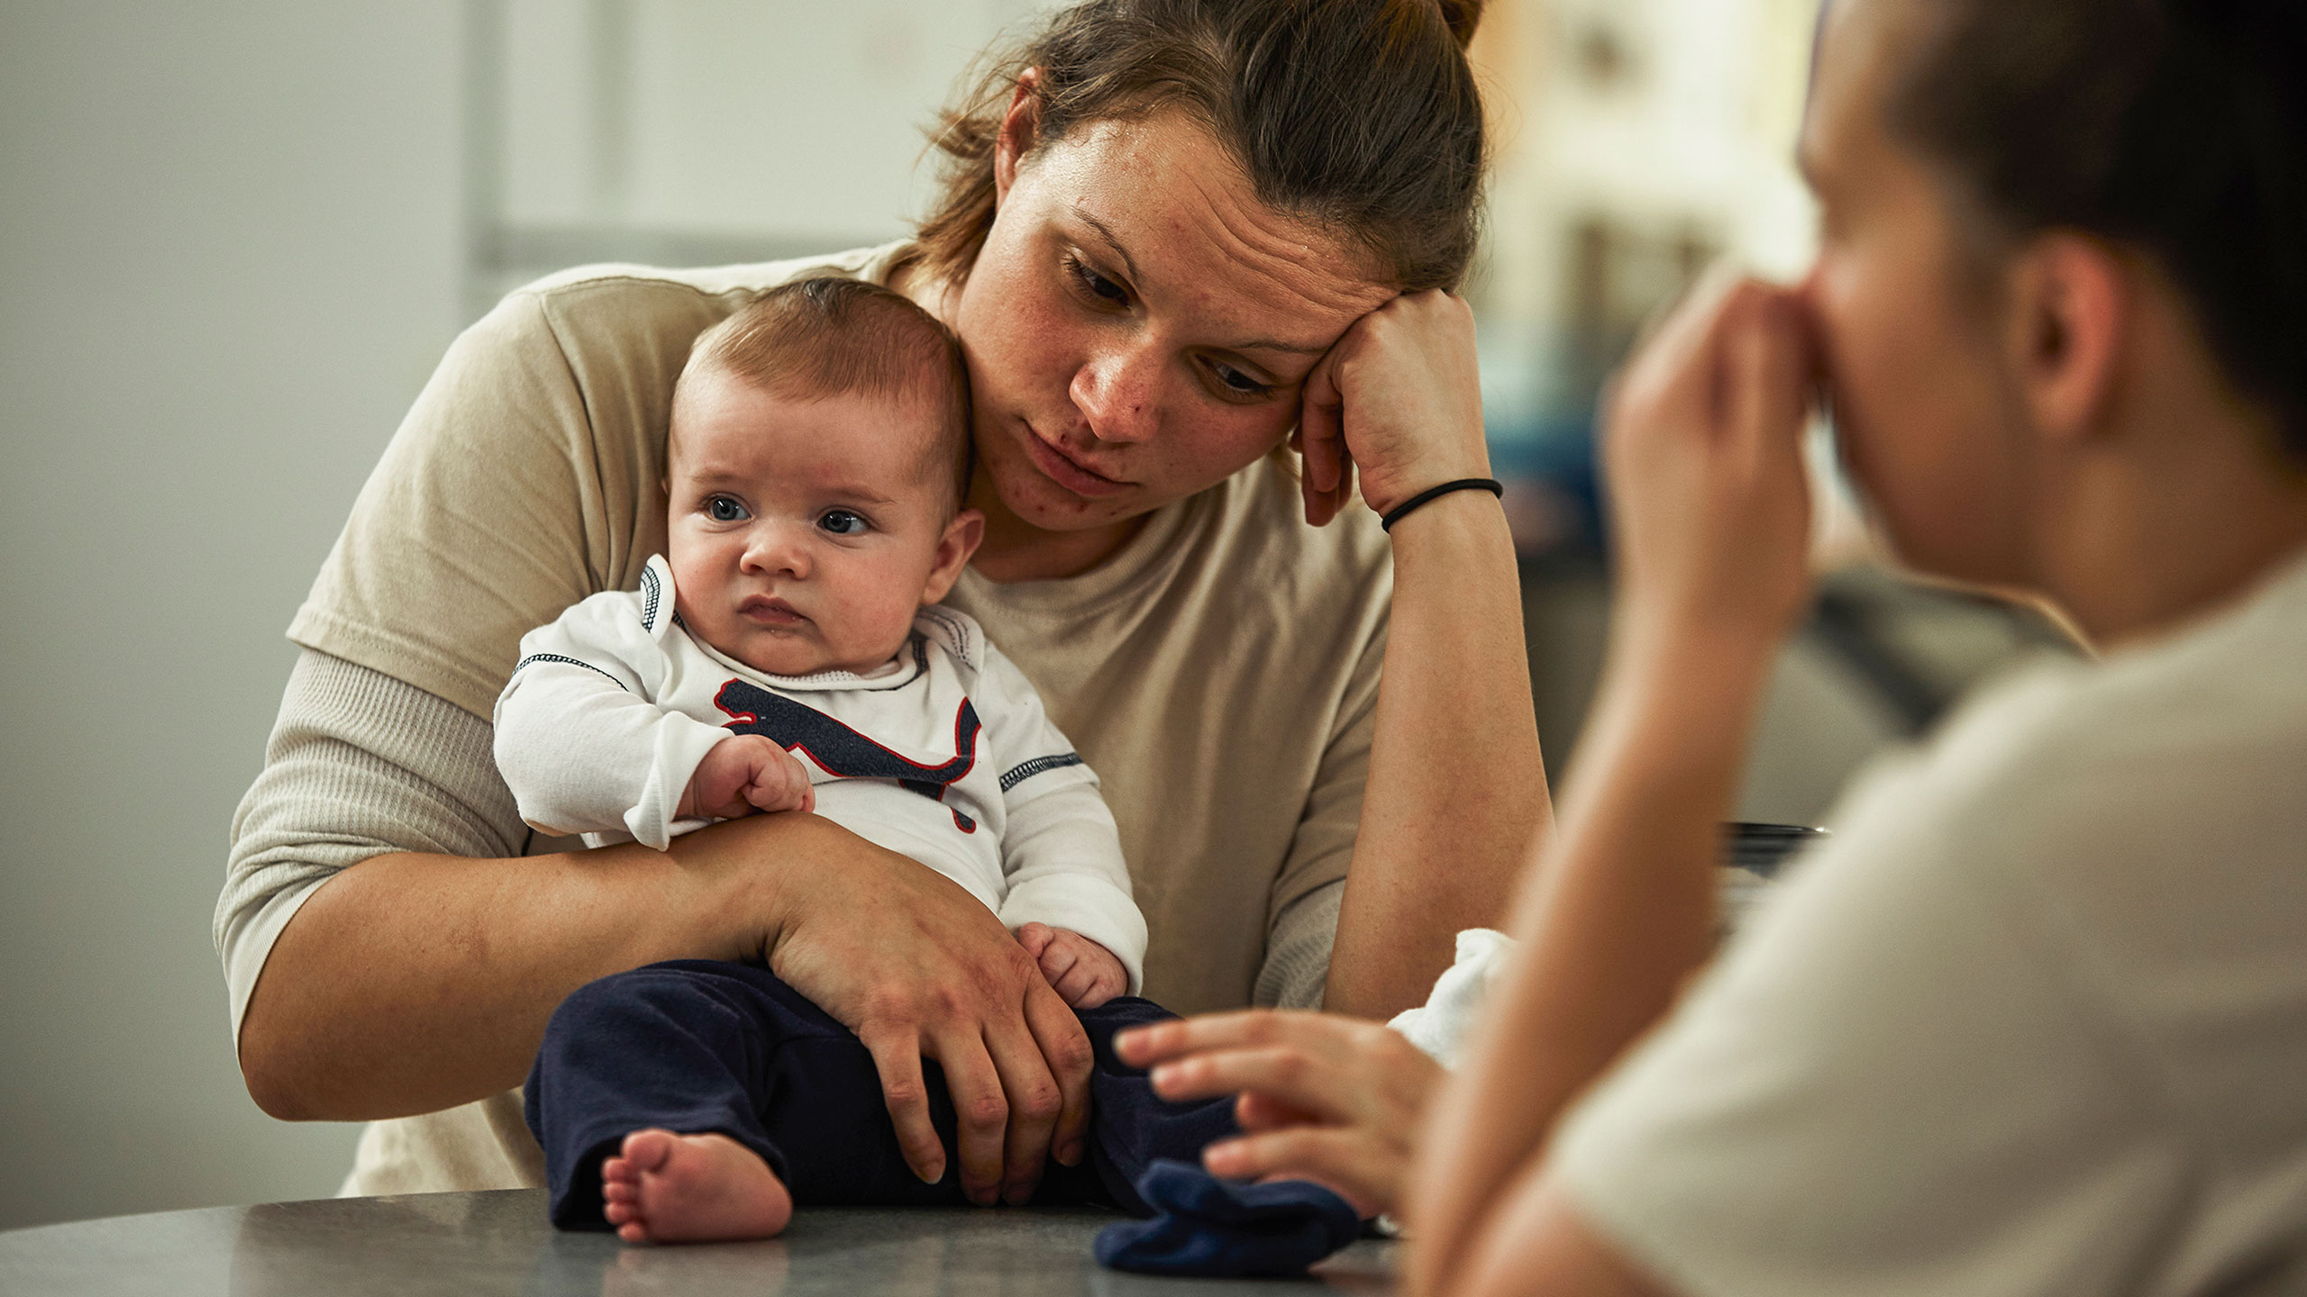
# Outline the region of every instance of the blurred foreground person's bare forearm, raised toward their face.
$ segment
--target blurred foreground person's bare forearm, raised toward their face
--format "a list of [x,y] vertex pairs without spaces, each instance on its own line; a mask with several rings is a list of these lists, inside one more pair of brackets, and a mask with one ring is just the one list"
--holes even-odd
[[1527,1191],[1562,1110],[1656,1022],[1714,942],[1721,819],[1769,646],[1684,642],[1613,662],[1562,831],[1525,884],[1523,942],[1414,1175],[1414,1292],[1453,1290]]

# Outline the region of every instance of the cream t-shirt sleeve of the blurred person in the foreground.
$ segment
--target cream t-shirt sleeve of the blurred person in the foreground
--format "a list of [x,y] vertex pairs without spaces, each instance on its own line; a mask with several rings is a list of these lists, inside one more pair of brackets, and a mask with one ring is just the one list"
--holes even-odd
[[2012,835],[1922,773],[1836,819],[1550,1172],[1691,1297],[2127,1290],[2185,1147]]

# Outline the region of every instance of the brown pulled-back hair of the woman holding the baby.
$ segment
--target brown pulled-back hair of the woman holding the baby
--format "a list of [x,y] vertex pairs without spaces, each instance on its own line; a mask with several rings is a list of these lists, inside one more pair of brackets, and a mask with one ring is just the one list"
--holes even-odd
[[1465,42],[1481,0],[1089,0],[990,55],[932,134],[944,189],[918,261],[969,277],[994,222],[994,143],[1040,72],[1034,148],[1084,122],[1186,111],[1262,203],[1368,252],[1405,293],[1474,258],[1481,95]]

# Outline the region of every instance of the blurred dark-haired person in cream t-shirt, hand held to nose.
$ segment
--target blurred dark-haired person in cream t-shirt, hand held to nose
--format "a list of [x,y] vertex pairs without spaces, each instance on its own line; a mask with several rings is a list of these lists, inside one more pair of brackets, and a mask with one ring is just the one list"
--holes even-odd
[[[1435,1078],[1373,1027],[1154,1027],[1165,1092],[1253,1092],[1213,1168],[1407,1200],[1419,1292],[2298,1290],[2302,69],[2286,0],[1829,7],[1811,277],[1700,295],[1613,399],[1610,669],[1479,1057],[1405,1172]],[[1903,558],[2109,653],[1864,780],[1682,997],[1818,378]]]

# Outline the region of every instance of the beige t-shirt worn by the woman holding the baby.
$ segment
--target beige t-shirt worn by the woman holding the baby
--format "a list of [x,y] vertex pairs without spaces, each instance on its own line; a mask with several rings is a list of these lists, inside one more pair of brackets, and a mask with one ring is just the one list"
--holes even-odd
[[[900,245],[715,270],[581,268],[508,295],[427,383],[288,635],[487,720],[519,637],[634,588],[664,547],[690,342],[796,275],[884,282]],[[1262,459],[1156,510],[1096,570],[948,602],[1034,681],[1105,785],[1151,930],[1144,995],[1237,1009],[1276,914],[1345,877],[1393,563],[1368,510],[1306,526]],[[355,1186],[535,1182],[519,1099],[378,1122]]]

